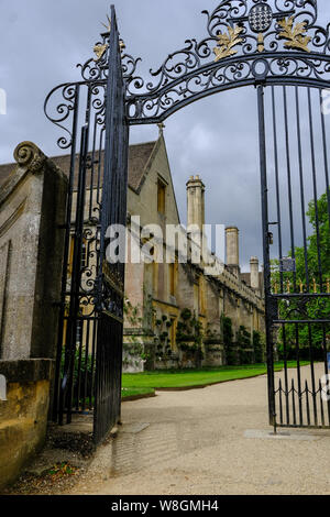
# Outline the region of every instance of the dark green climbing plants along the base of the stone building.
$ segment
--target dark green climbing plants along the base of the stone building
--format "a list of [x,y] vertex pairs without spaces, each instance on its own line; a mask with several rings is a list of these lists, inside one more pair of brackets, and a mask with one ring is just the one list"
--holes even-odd
[[[145,328],[146,319],[141,318],[141,309],[139,306],[133,307],[127,300],[124,306],[125,318],[132,327],[129,336],[130,342],[124,343],[124,364],[127,366],[138,366],[141,361],[146,362],[146,367],[151,367],[147,361],[152,362],[167,361],[173,359],[173,348],[170,343],[170,328],[174,321],[167,315],[157,314],[152,307],[148,311],[148,328]],[[141,332],[136,332],[136,328],[142,331],[143,336],[150,336],[151,342],[148,346],[141,342]],[[226,353],[226,363],[228,365],[253,364],[264,361],[264,339],[263,334],[257,331],[251,332],[244,326],[241,326],[234,334],[231,318],[222,315],[221,333]],[[188,362],[195,363],[197,367],[201,365],[205,356],[204,341],[215,339],[219,342],[219,336],[216,336],[210,329],[204,333],[201,322],[196,318],[195,314],[185,308],[182,310],[176,327],[176,345],[178,349],[178,365],[184,367]]]

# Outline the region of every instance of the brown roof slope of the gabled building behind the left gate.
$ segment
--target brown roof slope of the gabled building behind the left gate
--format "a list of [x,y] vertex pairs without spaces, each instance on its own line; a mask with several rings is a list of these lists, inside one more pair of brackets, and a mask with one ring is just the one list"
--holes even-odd
[[[156,145],[155,142],[146,142],[143,144],[135,144],[135,145],[130,145],[129,150],[129,186],[138,191],[144,180],[144,173],[146,165],[150,161],[150,157],[153,153],[153,150]],[[78,155],[77,155],[78,156]],[[101,164],[100,166],[102,167],[102,162],[103,162],[103,156],[105,153],[101,153]],[[99,158],[99,155],[97,153],[97,158]],[[57,165],[66,175],[69,175],[69,169],[70,169],[70,155],[66,154],[63,156],[54,156],[51,158],[52,162]],[[0,165],[0,185],[6,182],[8,176],[13,172],[15,168],[16,164],[11,163],[11,164],[4,164]],[[79,160],[76,160],[76,173],[78,172],[78,166],[79,166]],[[96,168],[98,168],[98,163],[96,164]],[[97,173],[96,173],[97,175]],[[77,174],[75,175],[77,178]],[[90,187],[90,175],[88,175],[89,178],[89,184],[87,183],[87,187]],[[77,185],[76,185],[77,186]]]

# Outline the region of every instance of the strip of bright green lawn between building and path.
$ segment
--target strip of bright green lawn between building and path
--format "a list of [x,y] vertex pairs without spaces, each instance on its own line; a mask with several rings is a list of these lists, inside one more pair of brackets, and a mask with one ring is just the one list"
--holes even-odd
[[[301,365],[308,364],[307,362]],[[296,362],[289,361],[289,367],[295,367]],[[275,370],[280,371],[283,362],[275,364]],[[243,366],[220,366],[204,370],[157,371],[143,373],[125,373],[122,376],[123,397],[151,393],[157,388],[184,388],[191,386],[206,386],[209,384],[249,378],[264,375],[267,372],[265,364],[252,364]],[[145,392],[150,389],[151,392]],[[130,393],[134,391],[134,393]],[[130,395],[128,395],[130,393]]]

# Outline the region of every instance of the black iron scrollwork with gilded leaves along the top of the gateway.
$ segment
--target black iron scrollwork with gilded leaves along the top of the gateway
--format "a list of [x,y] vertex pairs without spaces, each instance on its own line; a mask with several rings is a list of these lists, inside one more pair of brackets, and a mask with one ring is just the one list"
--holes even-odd
[[[157,70],[150,70],[150,79],[139,75],[141,59],[127,54],[121,41],[131,125],[160,123],[197,99],[257,81],[329,86],[330,24],[318,24],[317,0],[222,0],[212,12],[202,13],[207,18],[206,37],[187,40]],[[46,116],[65,131],[58,140],[62,148],[70,145],[76,85],[105,90],[110,31],[109,25],[101,34],[95,56],[78,65],[82,80],[61,85],[46,99]],[[53,110],[51,107],[54,96],[59,96],[55,113],[54,105]]]

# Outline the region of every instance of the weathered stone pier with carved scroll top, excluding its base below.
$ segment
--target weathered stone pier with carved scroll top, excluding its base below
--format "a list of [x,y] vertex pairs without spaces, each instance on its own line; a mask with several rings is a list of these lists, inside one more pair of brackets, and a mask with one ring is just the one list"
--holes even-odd
[[32,142],[14,158],[0,191],[0,359],[54,359],[68,182]]

